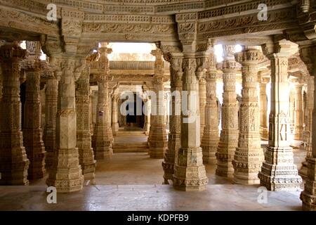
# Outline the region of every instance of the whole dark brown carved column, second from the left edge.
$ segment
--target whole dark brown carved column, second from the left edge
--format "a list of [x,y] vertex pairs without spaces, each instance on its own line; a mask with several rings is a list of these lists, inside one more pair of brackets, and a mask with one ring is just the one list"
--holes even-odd
[[29,179],[40,179],[44,177],[45,169],[45,148],[41,130],[41,101],[40,79],[41,70],[45,68],[45,63],[39,59],[41,46],[38,41],[27,41],[29,58],[26,63],[26,89],[23,143],[29,159],[28,177]]

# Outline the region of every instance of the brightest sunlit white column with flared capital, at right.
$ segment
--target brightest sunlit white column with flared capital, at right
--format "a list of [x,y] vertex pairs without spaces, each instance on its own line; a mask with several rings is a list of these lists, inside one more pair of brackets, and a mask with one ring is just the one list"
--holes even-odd
[[271,60],[271,111],[269,145],[258,177],[269,191],[297,190],[302,182],[289,146],[288,58],[297,49],[290,41],[265,44],[263,52]]

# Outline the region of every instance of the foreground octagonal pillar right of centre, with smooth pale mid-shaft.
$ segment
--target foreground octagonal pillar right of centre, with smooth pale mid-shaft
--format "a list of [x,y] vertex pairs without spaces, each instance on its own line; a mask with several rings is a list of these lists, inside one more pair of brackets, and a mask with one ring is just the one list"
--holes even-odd
[[[185,46],[186,48],[186,46]],[[206,63],[206,57],[199,60]],[[203,191],[209,179],[203,165],[199,121],[199,78],[195,53],[184,53],[183,58],[183,109],[181,117],[181,145],[174,165],[173,186],[181,191]]]

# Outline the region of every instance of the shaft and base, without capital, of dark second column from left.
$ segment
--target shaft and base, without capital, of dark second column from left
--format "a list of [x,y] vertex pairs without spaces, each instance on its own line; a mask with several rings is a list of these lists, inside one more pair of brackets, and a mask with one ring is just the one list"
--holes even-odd
[[39,101],[40,73],[36,69],[27,72],[23,143],[30,161],[29,179],[44,177],[45,148],[41,131],[41,102]]

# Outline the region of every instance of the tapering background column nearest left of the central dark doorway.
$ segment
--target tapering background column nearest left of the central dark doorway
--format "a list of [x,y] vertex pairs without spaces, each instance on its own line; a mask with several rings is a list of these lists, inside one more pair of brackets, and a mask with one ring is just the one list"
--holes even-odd
[[107,55],[112,53],[112,49],[101,47],[99,49],[99,70],[98,75],[98,104],[96,111],[96,127],[93,138],[96,146],[93,146],[96,160],[111,158],[112,150],[112,128],[110,124],[110,101],[108,95],[108,76],[110,72],[110,62]]

